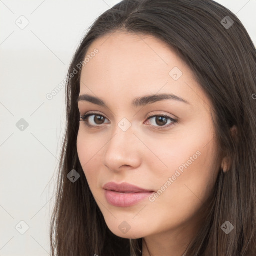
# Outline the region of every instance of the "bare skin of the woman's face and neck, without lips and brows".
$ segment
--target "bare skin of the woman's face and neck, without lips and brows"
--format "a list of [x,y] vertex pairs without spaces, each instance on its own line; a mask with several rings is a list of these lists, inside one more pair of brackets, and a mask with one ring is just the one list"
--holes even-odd
[[[159,39],[116,31],[96,39],[87,54],[95,48],[99,52],[81,71],[80,95],[97,96],[108,107],[79,101],[78,108],[81,116],[96,111],[106,119],[100,124],[89,117],[97,128],[80,121],[77,136],[78,156],[91,192],[115,235],[143,237],[143,256],[149,255],[145,242],[151,255],[182,256],[203,225],[200,209],[222,163],[216,153],[213,106],[188,66]],[[169,75],[173,67],[183,73],[178,80]],[[168,99],[137,108],[131,105],[136,97],[160,93],[173,93],[189,104]],[[168,126],[167,119],[163,128],[155,117],[147,119],[149,113],[178,122]],[[131,123],[127,131],[118,126],[123,118]],[[146,198],[130,207],[107,202],[105,183],[125,181],[158,191],[198,151],[197,159],[155,201]],[[123,221],[130,225],[125,234],[118,228]]]

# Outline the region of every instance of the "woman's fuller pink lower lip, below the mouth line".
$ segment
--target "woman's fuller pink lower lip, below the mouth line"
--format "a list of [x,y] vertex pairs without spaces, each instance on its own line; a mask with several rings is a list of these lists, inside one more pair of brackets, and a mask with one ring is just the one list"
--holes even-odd
[[118,193],[111,190],[105,190],[105,196],[108,203],[117,207],[128,207],[142,201],[154,192],[137,192],[137,193]]

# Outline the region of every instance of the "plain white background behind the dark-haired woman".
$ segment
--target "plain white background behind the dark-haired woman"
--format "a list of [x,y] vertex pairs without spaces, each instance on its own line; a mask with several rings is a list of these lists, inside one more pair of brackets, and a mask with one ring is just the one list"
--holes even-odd
[[[0,256],[50,254],[49,218],[65,125],[66,77],[86,29],[119,0],[0,0]],[[256,0],[217,0],[256,42]],[[29,24],[16,24],[23,15]],[[24,24],[25,20],[22,21]],[[16,123],[25,119],[20,131]],[[25,230],[25,221],[29,229]],[[22,228],[21,228],[21,226]]]

